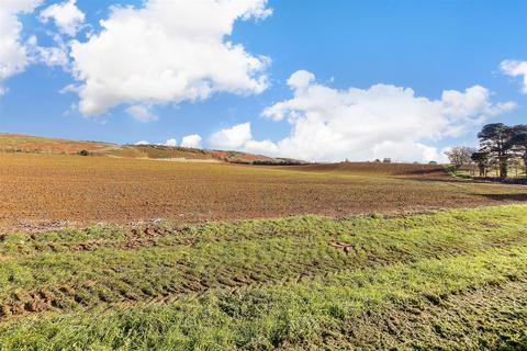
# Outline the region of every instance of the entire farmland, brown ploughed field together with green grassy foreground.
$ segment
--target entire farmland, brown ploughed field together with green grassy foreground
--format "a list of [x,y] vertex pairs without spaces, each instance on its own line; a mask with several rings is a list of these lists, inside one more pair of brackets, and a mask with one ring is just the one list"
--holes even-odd
[[527,190],[0,154],[0,350],[527,347]]

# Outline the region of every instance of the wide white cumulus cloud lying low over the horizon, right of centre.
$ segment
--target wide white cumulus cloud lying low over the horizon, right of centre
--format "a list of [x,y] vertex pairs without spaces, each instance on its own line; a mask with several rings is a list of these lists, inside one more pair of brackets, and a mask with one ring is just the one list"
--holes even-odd
[[442,160],[442,152],[427,144],[461,136],[515,107],[512,102],[492,102],[489,90],[480,86],[447,90],[434,100],[390,84],[333,89],[317,83],[307,71],[293,73],[288,84],[293,97],[262,113],[287,120],[288,137],[278,143],[254,140],[250,124],[242,124],[216,133],[215,138],[235,139],[227,144],[236,149],[304,160]]

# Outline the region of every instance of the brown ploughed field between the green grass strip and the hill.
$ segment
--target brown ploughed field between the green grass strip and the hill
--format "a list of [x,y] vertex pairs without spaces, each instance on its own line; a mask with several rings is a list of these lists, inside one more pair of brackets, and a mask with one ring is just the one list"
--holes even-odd
[[[372,165],[372,163],[368,163]],[[456,180],[438,167],[404,177],[178,163],[108,157],[0,154],[0,227],[280,217],[471,207],[527,200],[525,186]],[[431,170],[431,172],[429,171]],[[437,176],[437,177],[436,177]]]

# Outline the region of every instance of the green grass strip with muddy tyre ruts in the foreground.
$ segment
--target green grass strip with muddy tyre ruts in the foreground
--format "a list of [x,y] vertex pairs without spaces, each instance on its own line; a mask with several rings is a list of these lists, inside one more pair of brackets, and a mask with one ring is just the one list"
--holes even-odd
[[0,258],[0,350],[527,348],[525,205],[11,234]]

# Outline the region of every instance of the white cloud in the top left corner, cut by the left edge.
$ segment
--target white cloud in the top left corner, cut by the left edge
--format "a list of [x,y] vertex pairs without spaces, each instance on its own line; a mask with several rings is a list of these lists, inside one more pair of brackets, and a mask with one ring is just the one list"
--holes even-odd
[[0,1],[0,95],[7,92],[2,83],[11,76],[22,72],[29,64],[27,48],[22,42],[20,13],[30,13],[42,0]]

